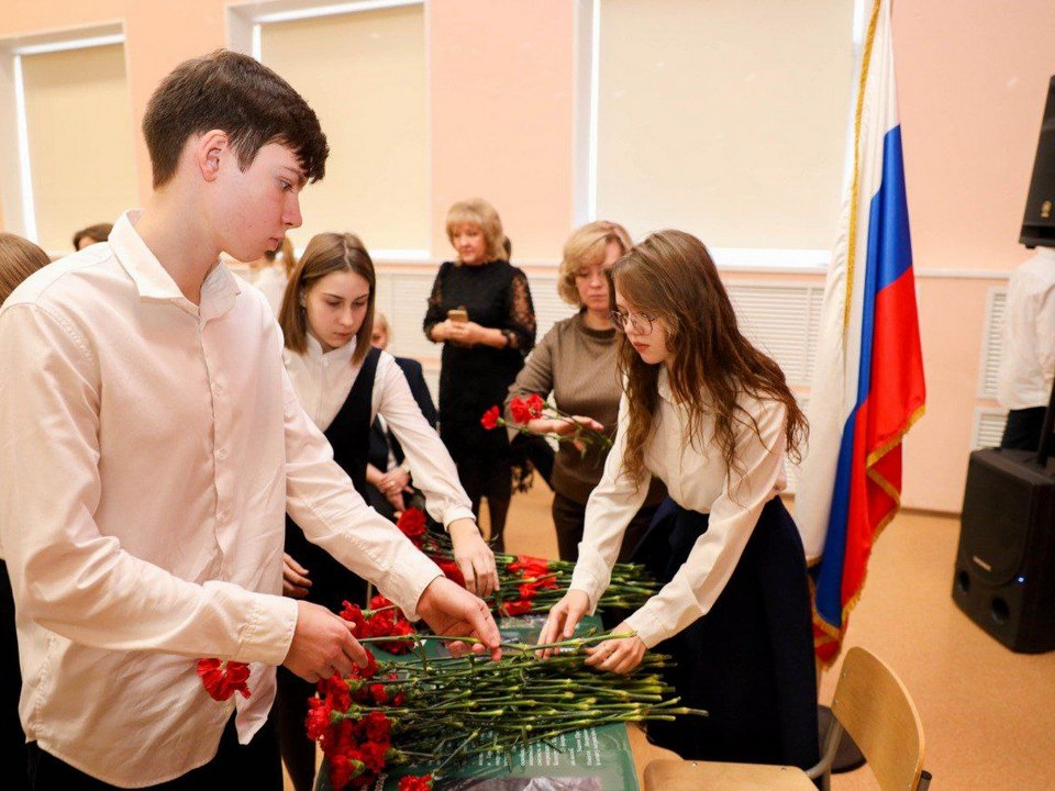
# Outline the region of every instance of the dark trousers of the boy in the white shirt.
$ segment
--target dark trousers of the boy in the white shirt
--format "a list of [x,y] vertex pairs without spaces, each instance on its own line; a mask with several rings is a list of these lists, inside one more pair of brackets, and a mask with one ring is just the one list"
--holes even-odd
[[[29,744],[29,754],[30,784],[34,791],[104,791],[118,788],[96,780],[45,753],[35,742]],[[275,725],[266,722],[249,744],[240,745],[232,716],[220,737],[215,758],[182,777],[148,788],[155,791],[282,791],[282,765],[278,757]]]

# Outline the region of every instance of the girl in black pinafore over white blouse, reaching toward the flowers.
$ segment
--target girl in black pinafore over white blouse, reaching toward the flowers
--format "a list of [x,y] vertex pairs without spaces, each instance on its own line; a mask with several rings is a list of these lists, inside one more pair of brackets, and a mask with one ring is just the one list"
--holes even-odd
[[[357,236],[314,236],[293,270],[279,315],[286,370],[301,405],[364,498],[370,426],[378,415],[385,419],[407,454],[425,508],[451,534],[467,587],[490,595],[498,584],[495,556],[476,525],[454,461],[422,415],[396,359],[370,344],[375,296],[374,263]],[[400,495],[400,480],[391,480],[387,493]],[[331,609],[340,609],[344,600],[364,603],[363,581],[306,542],[292,522],[287,523],[286,553],[290,595]],[[309,791],[315,750],[304,738],[303,724],[312,688],[281,669],[278,682],[282,757],[298,791]]]

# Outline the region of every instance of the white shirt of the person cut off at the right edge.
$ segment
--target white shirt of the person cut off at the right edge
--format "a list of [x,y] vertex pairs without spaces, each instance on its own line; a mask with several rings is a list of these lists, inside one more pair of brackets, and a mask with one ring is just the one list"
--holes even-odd
[[997,400],[1009,410],[1047,406],[1055,378],[1055,249],[1011,272]]

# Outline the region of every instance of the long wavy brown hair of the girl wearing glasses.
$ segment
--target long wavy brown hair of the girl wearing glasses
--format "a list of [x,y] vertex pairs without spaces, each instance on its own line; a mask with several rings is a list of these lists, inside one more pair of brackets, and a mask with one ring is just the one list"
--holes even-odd
[[[666,330],[666,346],[674,355],[668,371],[670,390],[689,413],[686,444],[702,449],[697,443],[702,441],[704,416],[711,415],[725,466],[742,470],[735,458],[736,432],[749,424],[758,435],[757,422],[737,403],[746,393],[785,405],[785,449],[798,459],[799,444],[808,431],[806,415],[780,367],[741,334],[718,268],[702,242],[681,231],[654,233],[617,261],[612,278],[632,310],[655,316]],[[613,290],[613,305],[614,300]],[[640,482],[658,409],[659,366],[644,363],[623,335],[619,370],[630,404],[623,466]]]

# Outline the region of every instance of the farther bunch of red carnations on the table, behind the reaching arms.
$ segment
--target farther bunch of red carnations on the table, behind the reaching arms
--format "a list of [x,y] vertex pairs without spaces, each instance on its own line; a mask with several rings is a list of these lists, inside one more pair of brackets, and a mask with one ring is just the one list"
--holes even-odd
[[[414,545],[431,557],[449,579],[463,588],[465,578],[454,561],[451,536],[442,530],[430,530],[420,509],[407,509],[397,526]],[[575,564],[547,560],[531,555],[495,556],[499,589],[487,600],[498,615],[547,613],[571,582]],[[599,610],[636,610],[655,595],[658,583],[637,564],[615,564],[608,588],[598,601]]]

